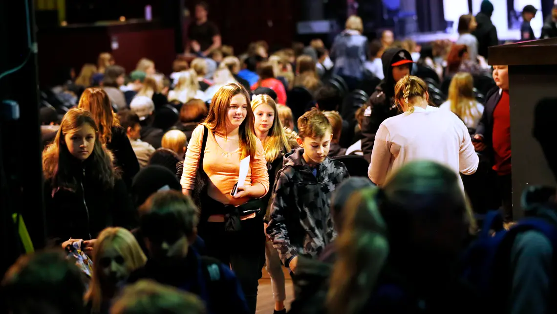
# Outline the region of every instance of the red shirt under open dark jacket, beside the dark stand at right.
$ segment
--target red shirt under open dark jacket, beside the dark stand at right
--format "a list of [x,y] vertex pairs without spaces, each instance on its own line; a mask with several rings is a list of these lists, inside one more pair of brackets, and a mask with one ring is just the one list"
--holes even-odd
[[503,176],[511,173],[511,115],[509,91],[503,91],[493,112],[493,170]]

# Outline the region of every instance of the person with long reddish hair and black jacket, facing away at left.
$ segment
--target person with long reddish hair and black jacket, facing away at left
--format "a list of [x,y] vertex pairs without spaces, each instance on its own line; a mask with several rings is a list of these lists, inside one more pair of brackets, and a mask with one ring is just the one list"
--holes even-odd
[[95,119],[99,129],[98,137],[114,154],[114,163],[120,168],[121,176],[129,189],[131,180],[139,172],[139,162],[126,130],[120,126],[118,115],[110,105],[108,94],[100,88],[87,88],[77,107],[87,110]]

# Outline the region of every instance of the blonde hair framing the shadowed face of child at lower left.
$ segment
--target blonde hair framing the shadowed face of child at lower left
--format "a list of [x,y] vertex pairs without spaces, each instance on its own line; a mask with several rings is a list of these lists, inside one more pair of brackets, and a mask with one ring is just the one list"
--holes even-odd
[[85,294],[85,299],[91,301],[93,312],[99,312],[102,303],[102,291],[99,274],[102,272],[99,267],[99,261],[102,252],[107,247],[112,247],[124,258],[124,263],[128,272],[143,267],[147,262],[147,258],[141,250],[138,241],[130,231],[120,227],[109,227],[101,231],[95,248],[93,250],[93,274],[89,291]]

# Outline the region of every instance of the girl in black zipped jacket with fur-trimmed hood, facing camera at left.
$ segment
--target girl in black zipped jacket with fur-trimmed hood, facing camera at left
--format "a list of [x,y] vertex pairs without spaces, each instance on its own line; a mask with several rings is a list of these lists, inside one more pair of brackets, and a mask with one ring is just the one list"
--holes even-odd
[[47,236],[63,247],[68,239],[95,239],[108,226],[137,223],[126,185],[97,134],[91,113],[71,109],[42,154]]

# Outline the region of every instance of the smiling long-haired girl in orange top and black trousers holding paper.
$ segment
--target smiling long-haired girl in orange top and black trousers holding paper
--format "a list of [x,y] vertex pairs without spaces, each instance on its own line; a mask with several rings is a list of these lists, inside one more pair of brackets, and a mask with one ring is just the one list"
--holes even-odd
[[[250,95],[238,83],[222,86],[211,100],[204,123],[192,133],[184,158],[182,191],[191,194],[198,166],[207,174],[207,192],[199,197],[201,219],[198,234],[205,241],[207,255],[231,264],[242,284],[250,311],[255,313],[257,281],[261,278],[265,252],[262,211],[257,200],[269,189],[265,150],[253,128]],[[203,133],[209,132],[201,157]],[[250,156],[250,168],[243,187],[231,191],[238,181],[240,161]],[[257,211],[257,209],[260,209]],[[261,212],[261,214],[258,214]]]

